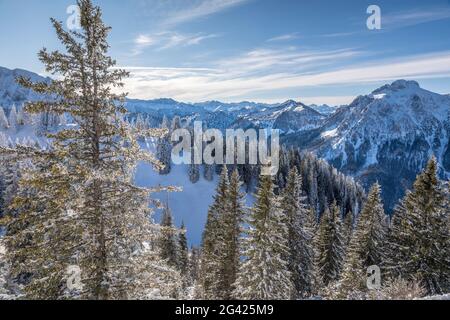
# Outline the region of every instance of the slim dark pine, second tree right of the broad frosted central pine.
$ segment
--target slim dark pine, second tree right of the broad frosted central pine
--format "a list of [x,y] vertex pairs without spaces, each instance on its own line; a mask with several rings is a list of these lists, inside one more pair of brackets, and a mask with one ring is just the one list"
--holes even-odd
[[340,209],[333,203],[323,213],[316,236],[317,268],[324,286],[337,281],[344,259],[344,237]]

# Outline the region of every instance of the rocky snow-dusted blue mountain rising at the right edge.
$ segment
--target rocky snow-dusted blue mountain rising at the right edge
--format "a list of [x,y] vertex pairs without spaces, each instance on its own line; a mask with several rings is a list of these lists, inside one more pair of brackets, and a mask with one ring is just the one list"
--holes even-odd
[[369,186],[379,181],[392,209],[427,160],[450,177],[450,98],[398,80],[342,107],[316,129],[284,142],[313,151]]

